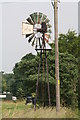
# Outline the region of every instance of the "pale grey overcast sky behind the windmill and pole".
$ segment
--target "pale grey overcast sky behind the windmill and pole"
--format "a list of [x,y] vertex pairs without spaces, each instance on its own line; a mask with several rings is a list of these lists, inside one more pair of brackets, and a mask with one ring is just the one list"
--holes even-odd
[[[60,0],[58,6],[59,34],[67,33],[69,28],[78,33],[78,0]],[[50,19],[53,41],[54,10],[49,0],[0,0],[0,71],[11,73],[24,55],[36,54],[34,47],[22,36],[22,21],[36,11]]]

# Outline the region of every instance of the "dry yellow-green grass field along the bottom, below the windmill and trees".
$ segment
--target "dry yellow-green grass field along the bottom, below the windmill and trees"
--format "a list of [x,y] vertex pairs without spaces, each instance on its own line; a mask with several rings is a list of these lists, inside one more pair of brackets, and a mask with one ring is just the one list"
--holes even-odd
[[56,115],[55,107],[40,107],[34,111],[33,105],[25,105],[25,102],[2,102],[2,118],[77,118],[77,111],[74,112],[70,108],[60,108],[60,112]]

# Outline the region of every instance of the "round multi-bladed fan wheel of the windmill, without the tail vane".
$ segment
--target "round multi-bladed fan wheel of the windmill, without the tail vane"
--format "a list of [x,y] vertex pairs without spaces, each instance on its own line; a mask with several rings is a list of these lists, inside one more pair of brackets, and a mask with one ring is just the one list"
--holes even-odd
[[43,33],[45,44],[49,42],[51,38],[51,25],[50,20],[47,16],[41,12],[35,12],[30,14],[26,19],[26,23],[33,26],[33,32],[31,34],[26,34],[28,42],[35,46],[35,48],[43,47]]

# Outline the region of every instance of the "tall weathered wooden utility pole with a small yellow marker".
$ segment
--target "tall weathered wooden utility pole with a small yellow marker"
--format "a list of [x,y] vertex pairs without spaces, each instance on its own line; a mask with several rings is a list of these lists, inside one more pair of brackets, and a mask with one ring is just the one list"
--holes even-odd
[[59,80],[59,52],[58,52],[58,0],[54,0],[54,33],[55,33],[56,112],[59,112],[60,80]]

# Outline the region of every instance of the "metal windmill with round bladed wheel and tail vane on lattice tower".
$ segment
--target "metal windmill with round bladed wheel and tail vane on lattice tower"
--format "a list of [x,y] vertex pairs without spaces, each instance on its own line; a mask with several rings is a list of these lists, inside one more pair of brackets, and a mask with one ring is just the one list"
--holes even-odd
[[[47,87],[48,87],[48,101],[50,102],[50,88],[49,88],[49,76],[48,76],[48,63],[46,51],[51,51],[49,40],[51,38],[51,25],[50,20],[47,16],[41,12],[35,12],[30,14],[25,22],[22,22],[22,34],[25,35],[26,39],[32,46],[35,46],[35,50],[40,52],[40,61],[38,67],[38,80],[36,84],[36,98],[38,97],[38,87],[40,79],[40,69],[43,73],[43,80],[47,76]],[[43,66],[43,68],[42,68]],[[44,85],[42,91],[42,99],[45,104]]]

